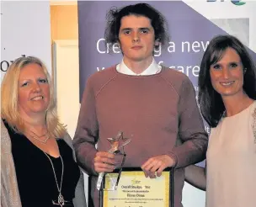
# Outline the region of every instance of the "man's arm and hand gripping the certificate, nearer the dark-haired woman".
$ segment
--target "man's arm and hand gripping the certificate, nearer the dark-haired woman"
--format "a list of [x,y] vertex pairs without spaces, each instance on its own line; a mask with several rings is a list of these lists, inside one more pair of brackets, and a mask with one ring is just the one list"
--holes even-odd
[[179,91],[178,145],[166,155],[151,157],[141,168],[146,177],[161,176],[166,167],[186,167],[205,159],[208,135],[195,101],[195,89],[186,77]]

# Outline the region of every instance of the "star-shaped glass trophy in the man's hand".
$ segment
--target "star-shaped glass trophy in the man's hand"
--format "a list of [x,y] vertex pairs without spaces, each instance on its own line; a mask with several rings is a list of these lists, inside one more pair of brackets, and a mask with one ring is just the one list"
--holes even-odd
[[[115,138],[107,138],[107,140],[110,142],[110,149],[109,149],[109,153],[112,153],[112,154],[123,154],[124,155],[124,158],[123,158],[123,161],[121,163],[121,167],[123,166],[124,162],[125,162],[125,151],[124,151],[124,146],[129,144],[131,142],[131,139],[129,138],[125,138],[124,137],[124,133],[122,131],[118,132],[118,134],[115,136]],[[121,150],[123,151],[123,153],[121,153]],[[120,178],[120,173],[121,173],[121,167],[120,167],[120,172],[119,172],[119,176],[118,176],[118,179],[117,179],[117,182],[115,184],[115,187],[119,181],[119,178]],[[99,173],[99,177],[98,177],[98,180],[97,180],[97,185],[96,185],[96,188],[99,190],[100,187],[101,187],[101,183],[102,183],[102,180],[104,178],[104,173]]]

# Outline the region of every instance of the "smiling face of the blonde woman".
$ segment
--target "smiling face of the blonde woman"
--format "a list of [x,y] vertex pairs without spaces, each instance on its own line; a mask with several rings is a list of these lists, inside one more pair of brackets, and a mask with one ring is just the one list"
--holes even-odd
[[18,103],[21,115],[45,114],[50,103],[50,86],[40,65],[31,63],[20,70]]

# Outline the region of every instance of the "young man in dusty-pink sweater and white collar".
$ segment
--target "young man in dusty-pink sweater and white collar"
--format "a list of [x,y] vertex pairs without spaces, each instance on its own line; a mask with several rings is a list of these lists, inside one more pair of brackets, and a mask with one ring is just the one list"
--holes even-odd
[[99,206],[99,173],[112,172],[122,160],[106,152],[107,138],[121,130],[132,139],[124,167],[141,167],[150,178],[175,167],[174,206],[180,207],[183,167],[204,160],[208,143],[193,85],[153,59],[154,48],[168,40],[156,9],[138,3],[110,11],[108,24],[106,42],[119,43],[123,60],[88,78],[74,137],[77,162],[93,176],[94,206]]

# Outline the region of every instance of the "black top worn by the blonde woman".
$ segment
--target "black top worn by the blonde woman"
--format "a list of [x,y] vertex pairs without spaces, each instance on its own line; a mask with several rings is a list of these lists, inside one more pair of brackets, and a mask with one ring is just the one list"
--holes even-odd
[[73,160],[72,149],[62,139],[57,140],[61,157],[51,157],[51,162],[44,151],[35,146],[24,135],[15,133],[6,122],[12,141],[13,161],[23,207],[58,207],[52,200],[58,201],[56,179],[51,162],[56,171],[58,185],[61,183],[61,157],[64,163],[61,194],[68,202],[64,206],[73,206],[75,188],[80,177],[77,163]]

